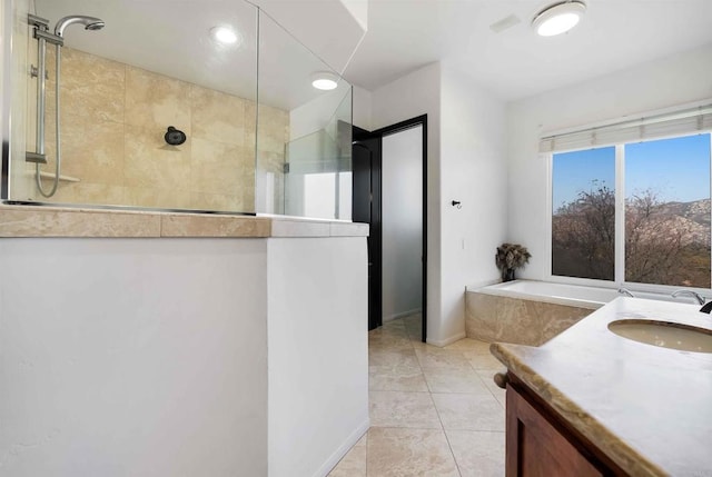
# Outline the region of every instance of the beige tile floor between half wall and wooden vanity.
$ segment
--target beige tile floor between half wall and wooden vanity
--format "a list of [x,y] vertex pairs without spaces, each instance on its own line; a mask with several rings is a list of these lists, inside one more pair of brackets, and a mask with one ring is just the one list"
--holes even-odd
[[370,429],[330,477],[504,476],[504,367],[490,345],[421,342],[421,316],[368,334]]

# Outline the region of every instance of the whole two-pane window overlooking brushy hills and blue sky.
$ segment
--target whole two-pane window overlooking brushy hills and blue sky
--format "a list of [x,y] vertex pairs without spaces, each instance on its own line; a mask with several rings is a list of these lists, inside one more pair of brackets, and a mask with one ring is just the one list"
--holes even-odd
[[710,133],[554,153],[552,275],[710,288],[711,160]]

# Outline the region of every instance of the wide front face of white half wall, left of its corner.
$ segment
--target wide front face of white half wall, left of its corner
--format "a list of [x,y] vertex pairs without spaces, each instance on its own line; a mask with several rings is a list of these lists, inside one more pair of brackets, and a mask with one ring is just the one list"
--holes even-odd
[[0,474],[266,475],[266,261],[265,240],[1,239]]

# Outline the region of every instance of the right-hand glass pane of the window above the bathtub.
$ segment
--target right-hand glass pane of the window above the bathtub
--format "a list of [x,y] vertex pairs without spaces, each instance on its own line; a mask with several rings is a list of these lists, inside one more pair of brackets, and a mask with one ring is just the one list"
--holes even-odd
[[710,288],[710,135],[624,151],[625,281]]

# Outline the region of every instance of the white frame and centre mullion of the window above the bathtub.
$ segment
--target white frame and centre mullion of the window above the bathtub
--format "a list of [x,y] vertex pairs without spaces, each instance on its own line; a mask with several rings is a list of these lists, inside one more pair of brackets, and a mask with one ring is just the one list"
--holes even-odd
[[[704,131],[694,131],[689,135],[675,135],[668,138],[660,139],[671,139],[684,136],[693,136],[695,133],[700,135],[710,135],[710,150],[712,151],[712,130]],[[657,140],[657,139],[654,139]],[[630,143],[630,142],[629,142]],[[592,148],[585,149],[575,149],[575,150],[587,150]],[[680,290],[682,288],[686,290],[696,291],[703,296],[710,297],[712,294],[712,285],[711,288],[700,288],[700,287],[683,287],[675,285],[655,285],[655,284],[639,284],[634,281],[625,281],[625,213],[619,213],[619,210],[625,210],[625,167],[624,167],[624,150],[625,143],[615,145],[615,264],[614,264],[614,280],[600,280],[594,278],[578,278],[578,277],[565,277],[560,275],[552,274],[552,259],[553,259],[553,247],[552,247],[552,222],[553,222],[553,171],[554,171],[554,152],[540,152],[540,159],[544,159],[546,161],[546,244],[543,248],[545,250],[545,274],[544,278],[546,281],[554,284],[565,284],[565,285],[580,285],[586,287],[599,287],[599,288],[621,288],[624,287],[631,291],[641,291],[641,292],[652,292],[652,294],[672,294],[675,290]],[[572,150],[573,151],[573,150]],[[556,151],[556,153],[561,152],[572,152],[572,151]],[[712,158],[711,158],[711,167],[710,167],[710,195],[712,200]],[[711,208],[711,223],[712,223],[712,208]],[[711,248],[712,248],[712,233],[710,233]],[[710,281],[712,284],[712,267],[710,267]]]

